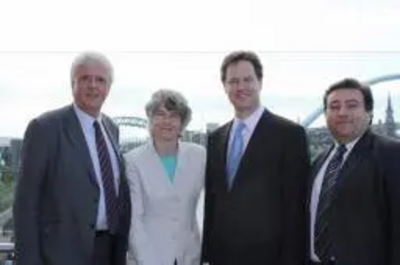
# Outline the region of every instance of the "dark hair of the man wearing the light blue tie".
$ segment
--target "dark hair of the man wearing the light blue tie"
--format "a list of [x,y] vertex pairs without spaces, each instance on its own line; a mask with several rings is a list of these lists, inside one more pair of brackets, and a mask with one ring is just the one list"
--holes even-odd
[[263,66],[261,64],[260,59],[257,54],[251,51],[235,51],[228,54],[221,65],[221,81],[225,82],[226,79],[226,69],[229,65],[236,64],[239,61],[248,61],[250,62],[256,73],[257,79],[262,80],[263,78]]

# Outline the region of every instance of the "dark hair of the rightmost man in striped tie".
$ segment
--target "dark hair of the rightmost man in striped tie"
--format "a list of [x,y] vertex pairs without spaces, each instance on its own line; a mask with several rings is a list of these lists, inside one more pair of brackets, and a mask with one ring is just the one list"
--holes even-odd
[[366,84],[359,82],[354,78],[345,78],[337,83],[331,85],[324,94],[324,110],[327,108],[328,96],[339,89],[354,89],[361,92],[364,98],[364,107],[367,112],[371,112],[374,109],[374,98],[372,97],[371,88]]

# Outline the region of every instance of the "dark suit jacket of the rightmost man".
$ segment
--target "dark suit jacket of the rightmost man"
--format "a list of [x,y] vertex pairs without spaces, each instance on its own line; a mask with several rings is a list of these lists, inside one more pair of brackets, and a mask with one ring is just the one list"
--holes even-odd
[[[309,194],[328,154],[313,165]],[[329,209],[335,264],[400,264],[400,142],[367,131],[347,157],[337,185]]]

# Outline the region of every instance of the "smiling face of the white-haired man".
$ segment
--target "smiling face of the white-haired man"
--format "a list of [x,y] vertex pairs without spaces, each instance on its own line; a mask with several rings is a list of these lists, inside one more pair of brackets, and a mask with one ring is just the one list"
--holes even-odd
[[75,104],[87,114],[96,117],[107,98],[111,80],[107,68],[100,62],[77,66],[72,80]]

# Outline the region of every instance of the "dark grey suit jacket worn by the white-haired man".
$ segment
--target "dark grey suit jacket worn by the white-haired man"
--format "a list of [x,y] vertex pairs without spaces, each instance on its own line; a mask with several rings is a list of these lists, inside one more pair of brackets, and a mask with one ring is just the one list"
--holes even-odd
[[[120,223],[115,265],[125,264],[130,224],[129,188],[118,154],[118,128],[104,127],[120,161]],[[30,122],[25,132],[14,202],[18,265],[92,264],[99,187],[72,106]]]

